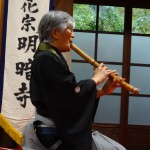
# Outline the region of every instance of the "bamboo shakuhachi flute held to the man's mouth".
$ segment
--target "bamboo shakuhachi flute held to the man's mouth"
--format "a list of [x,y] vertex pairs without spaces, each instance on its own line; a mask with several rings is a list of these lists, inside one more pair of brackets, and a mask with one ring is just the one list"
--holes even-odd
[[[92,59],[90,56],[88,56],[85,52],[83,52],[79,47],[77,47],[75,44],[71,44],[71,49],[73,49],[76,53],[78,53],[81,57],[83,57],[87,62],[89,62],[94,67],[98,67],[99,63],[96,62],[94,59]],[[112,78],[116,80],[117,83],[121,85],[121,87],[125,88],[126,90],[132,92],[134,95],[137,95],[139,93],[139,89],[128,84],[127,82],[123,81],[119,76],[110,75]]]

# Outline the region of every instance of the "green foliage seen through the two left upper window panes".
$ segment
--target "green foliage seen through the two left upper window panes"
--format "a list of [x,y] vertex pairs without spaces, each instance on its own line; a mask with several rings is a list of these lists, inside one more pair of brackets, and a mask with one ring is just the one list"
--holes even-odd
[[[96,5],[74,4],[73,17],[76,29],[96,29]],[[99,14],[99,31],[123,32],[124,9],[120,7],[101,6]]]

